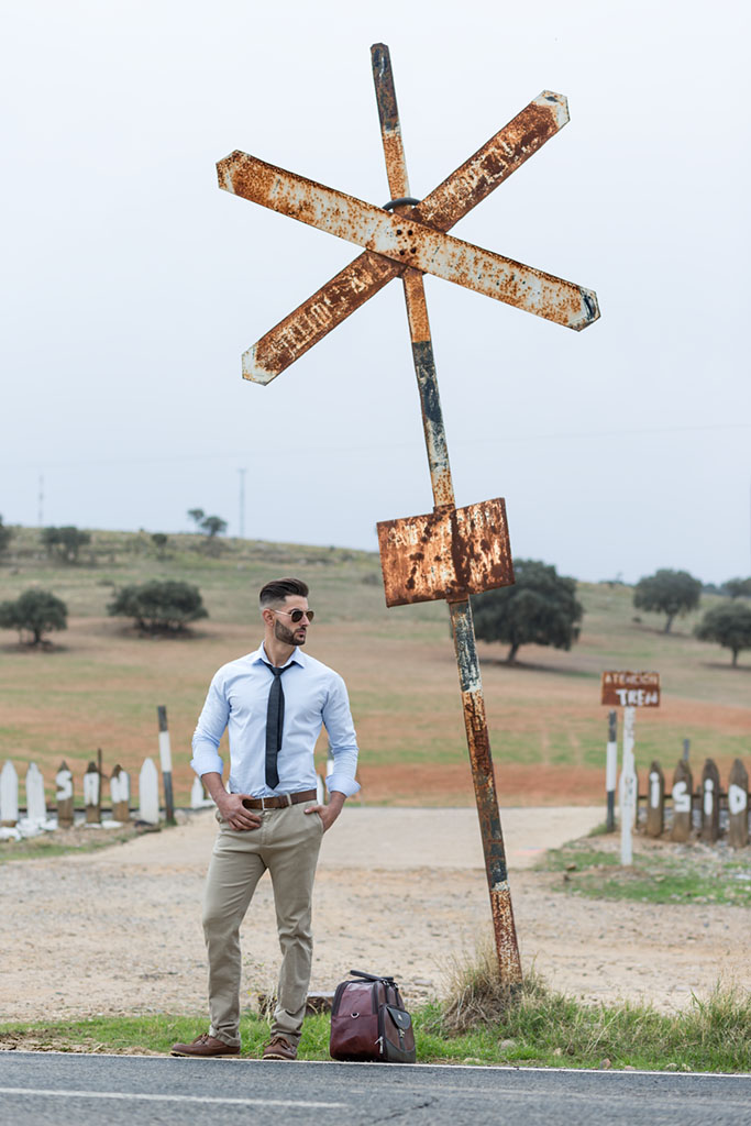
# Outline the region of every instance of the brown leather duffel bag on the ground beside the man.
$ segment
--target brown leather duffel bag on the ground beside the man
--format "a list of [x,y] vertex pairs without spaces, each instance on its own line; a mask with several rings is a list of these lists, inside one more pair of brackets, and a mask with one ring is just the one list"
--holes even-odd
[[333,1060],[414,1063],[412,1018],[393,977],[349,971],[337,985],[329,1052]]

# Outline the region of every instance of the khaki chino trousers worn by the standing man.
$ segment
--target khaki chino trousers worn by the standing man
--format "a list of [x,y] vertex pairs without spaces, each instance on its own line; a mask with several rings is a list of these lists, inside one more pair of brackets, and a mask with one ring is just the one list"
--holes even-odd
[[[313,803],[307,803],[310,806]],[[271,1035],[296,1045],[311,980],[313,879],[323,822],[305,813],[305,803],[259,811],[258,829],[230,829],[218,814],[204,895],[204,936],[208,955],[211,1035],[240,1044],[240,924],[258,881],[268,868],[274,887],[281,969]]]

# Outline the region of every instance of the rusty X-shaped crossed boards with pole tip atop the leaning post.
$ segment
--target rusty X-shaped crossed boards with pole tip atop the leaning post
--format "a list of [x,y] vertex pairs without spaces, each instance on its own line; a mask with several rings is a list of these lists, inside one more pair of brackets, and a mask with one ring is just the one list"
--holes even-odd
[[[270,383],[388,282],[413,268],[535,313],[584,329],[598,319],[597,296],[455,239],[447,232],[508,179],[569,120],[566,99],[545,91],[424,199],[410,198],[387,48],[373,48],[382,135],[394,213],[343,191],[233,152],[217,168],[220,187],[340,239],[365,252],[243,355],[243,376]],[[378,69],[381,68],[381,74]],[[381,79],[381,81],[379,81]],[[399,200],[403,200],[399,206]]]

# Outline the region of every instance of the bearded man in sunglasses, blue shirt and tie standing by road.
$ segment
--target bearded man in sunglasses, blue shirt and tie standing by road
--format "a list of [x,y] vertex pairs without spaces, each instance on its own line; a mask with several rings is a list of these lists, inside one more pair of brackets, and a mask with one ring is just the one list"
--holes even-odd
[[[260,592],[263,643],[214,677],[193,736],[191,767],[216,803],[220,831],[206,879],[204,935],[211,1028],[173,1055],[240,1052],[240,924],[268,868],[281,969],[265,1060],[294,1060],[311,977],[313,877],[323,833],[355,781],[357,741],[341,677],[302,652],[313,610],[299,579]],[[325,724],[333,770],[315,804],[315,741]],[[229,793],[218,745],[229,727]]]

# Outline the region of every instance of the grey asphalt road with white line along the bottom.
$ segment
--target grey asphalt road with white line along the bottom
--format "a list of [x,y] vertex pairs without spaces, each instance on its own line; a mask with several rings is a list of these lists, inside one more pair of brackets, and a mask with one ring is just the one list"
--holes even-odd
[[741,1126],[751,1076],[6,1052],[14,1126]]

